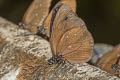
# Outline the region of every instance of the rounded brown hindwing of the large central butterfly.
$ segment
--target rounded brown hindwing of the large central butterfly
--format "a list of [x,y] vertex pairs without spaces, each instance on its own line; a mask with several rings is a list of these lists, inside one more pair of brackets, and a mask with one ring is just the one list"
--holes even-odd
[[87,62],[93,53],[93,39],[88,31],[74,28],[61,38],[57,51],[69,62]]

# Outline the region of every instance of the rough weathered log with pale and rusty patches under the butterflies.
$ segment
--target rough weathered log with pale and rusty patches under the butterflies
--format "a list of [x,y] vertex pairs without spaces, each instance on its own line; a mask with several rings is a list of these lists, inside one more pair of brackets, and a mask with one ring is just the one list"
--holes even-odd
[[87,63],[47,64],[49,42],[0,18],[0,80],[120,80]]

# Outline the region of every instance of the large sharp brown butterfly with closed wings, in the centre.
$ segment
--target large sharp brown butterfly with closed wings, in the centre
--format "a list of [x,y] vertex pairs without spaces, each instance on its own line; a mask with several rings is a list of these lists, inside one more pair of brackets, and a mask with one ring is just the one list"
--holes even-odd
[[52,10],[49,25],[53,53],[48,60],[50,64],[65,60],[70,63],[88,62],[91,59],[94,45],[92,35],[71,7],[59,2]]

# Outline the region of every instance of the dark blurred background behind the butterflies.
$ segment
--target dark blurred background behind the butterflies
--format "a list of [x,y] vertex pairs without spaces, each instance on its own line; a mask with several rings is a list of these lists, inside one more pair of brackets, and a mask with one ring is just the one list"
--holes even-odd
[[[58,0],[54,0],[55,4]],[[0,16],[18,24],[32,0],[0,0]],[[120,0],[77,0],[82,18],[95,43],[120,43]]]

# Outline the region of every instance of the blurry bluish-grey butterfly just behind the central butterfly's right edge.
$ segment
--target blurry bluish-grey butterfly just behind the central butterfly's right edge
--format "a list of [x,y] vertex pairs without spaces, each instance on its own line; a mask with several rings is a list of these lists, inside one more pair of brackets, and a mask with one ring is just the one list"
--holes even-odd
[[113,49],[112,45],[104,44],[104,43],[96,43],[94,45],[93,56],[90,60],[90,63],[96,65],[97,62],[105,55],[107,52]]

